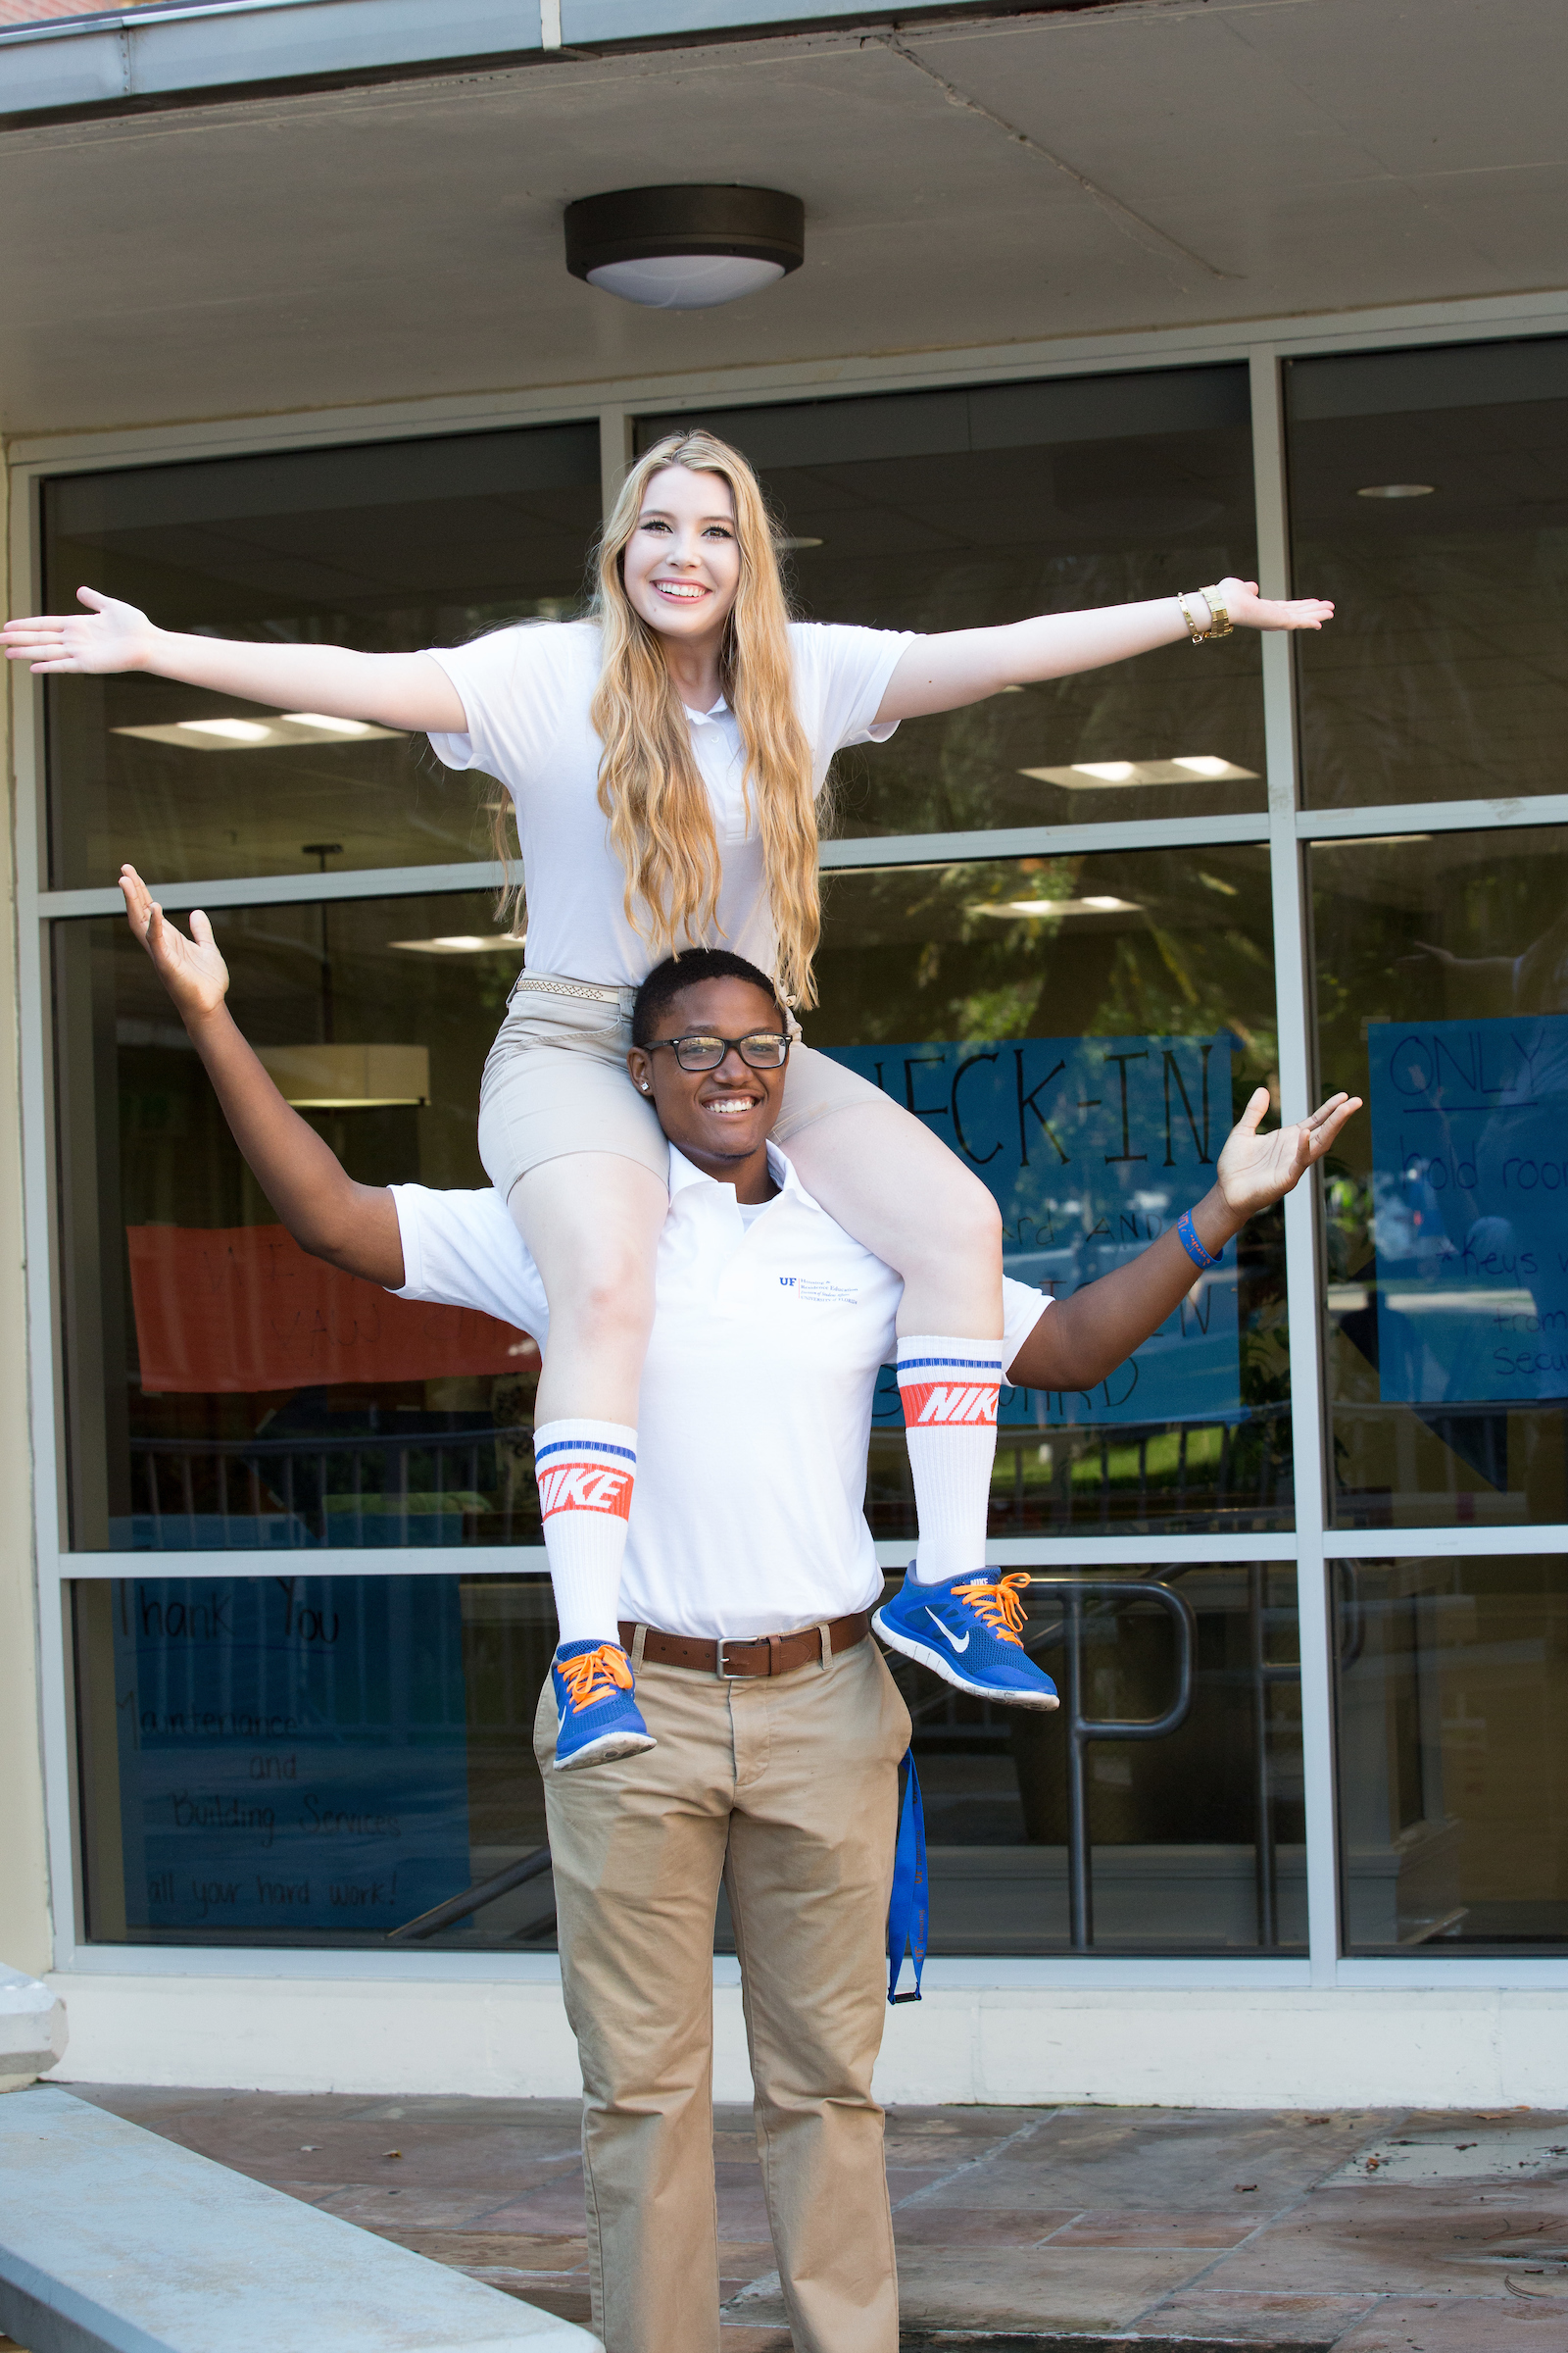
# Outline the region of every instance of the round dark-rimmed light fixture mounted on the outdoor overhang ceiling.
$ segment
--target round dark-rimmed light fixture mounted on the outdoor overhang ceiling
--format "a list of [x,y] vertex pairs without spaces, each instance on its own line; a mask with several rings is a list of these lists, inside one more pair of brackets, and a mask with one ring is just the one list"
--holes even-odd
[[646,311],[712,311],[806,259],[806,207],[780,188],[614,188],[564,226],[571,275]]

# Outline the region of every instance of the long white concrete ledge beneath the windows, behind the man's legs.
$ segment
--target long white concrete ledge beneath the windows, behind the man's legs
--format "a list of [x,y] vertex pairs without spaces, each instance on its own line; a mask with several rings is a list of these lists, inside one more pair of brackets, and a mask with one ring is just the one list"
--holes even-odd
[[[733,1967],[733,1965],[731,1965]],[[1011,1967],[1011,1965],[1001,1965]],[[576,2099],[559,1984],[496,1977],[54,1977],[71,2075],[193,2089]],[[738,1984],[715,2097],[750,2101]],[[59,2078],[56,2078],[59,2080]],[[931,1986],[889,2012],[884,2101],[1512,2108],[1568,2082],[1568,1988]],[[31,2097],[31,2094],[16,2094]],[[26,2339],[24,2339],[26,2341]]]

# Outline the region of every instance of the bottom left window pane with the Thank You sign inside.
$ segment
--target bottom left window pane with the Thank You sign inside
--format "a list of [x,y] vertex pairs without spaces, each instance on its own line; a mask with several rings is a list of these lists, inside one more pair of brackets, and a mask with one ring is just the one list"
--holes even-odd
[[[548,1579],[71,1591],[89,1939],[386,1951],[388,1932],[548,1854]],[[548,1866],[430,1941],[550,1951]]]

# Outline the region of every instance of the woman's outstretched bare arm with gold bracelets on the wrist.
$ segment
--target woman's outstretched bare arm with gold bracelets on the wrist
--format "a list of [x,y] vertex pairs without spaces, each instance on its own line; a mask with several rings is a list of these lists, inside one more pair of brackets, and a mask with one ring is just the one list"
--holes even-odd
[[[1333,621],[1333,605],[1321,598],[1265,598],[1258,595],[1258,581],[1239,579],[1215,586],[1234,628],[1321,628]],[[1187,602],[1197,626],[1208,628],[1213,614],[1201,591],[1192,591]],[[1147,605],[1100,605],[1093,612],[1046,612],[1001,628],[938,631],[905,647],[877,720],[959,711],[1004,687],[1100,671],[1107,661],[1152,654],[1157,645],[1178,645],[1185,635],[1187,619],[1173,595],[1150,598]]]

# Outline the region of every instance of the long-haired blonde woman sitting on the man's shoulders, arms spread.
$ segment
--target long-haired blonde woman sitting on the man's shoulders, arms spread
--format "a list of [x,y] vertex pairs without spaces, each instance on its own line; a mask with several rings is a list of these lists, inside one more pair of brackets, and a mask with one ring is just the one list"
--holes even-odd
[[[480,1153],[550,1299],[534,1447],[559,1614],[555,1762],[651,1746],[616,1626],[668,1209],[668,1144],[625,1061],[637,984],[672,948],[726,946],[773,972],[785,1002],[811,1007],[816,802],[846,744],[1187,635],[1321,628],[1333,607],[1225,579],[933,638],[792,624],[757,480],[708,433],[663,440],[628,475],[585,621],[357,654],[172,635],[132,605],[78,595],[87,614],[12,621],[9,659],[42,673],[150,671],[425,732],[449,767],[477,767],[512,795],[529,946],[484,1068]],[[990,1689],[976,1661],[1006,1652],[994,1697],[1048,1706],[1044,1675],[1044,1689],[1020,1685],[1018,1645],[999,1642],[1016,1602],[983,1572],[1001,1377],[990,1193],[919,1120],[785,1033],[677,1047],[686,1066],[715,1052],[762,1068],[788,1056],[776,1141],[806,1191],[903,1275],[914,1584],[931,1593],[919,1638],[900,1647],[969,1689]],[[802,1315],[830,1313],[802,1297]],[[693,1511],[729,1511],[743,1544],[745,1494],[724,1494],[715,1464]]]

